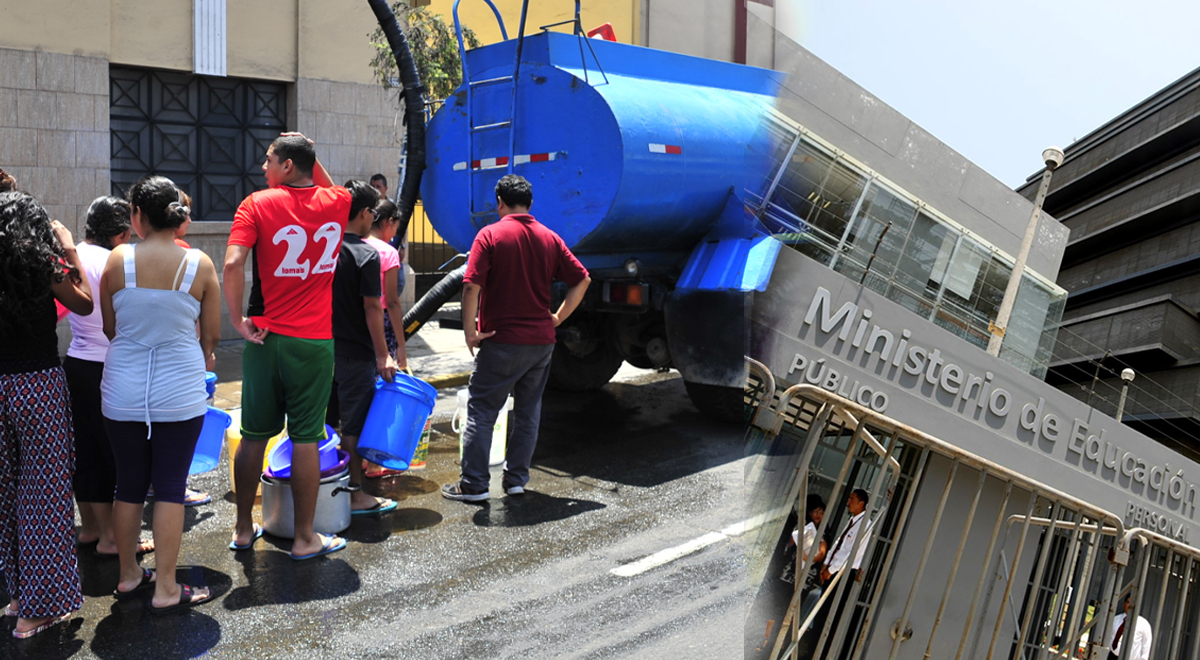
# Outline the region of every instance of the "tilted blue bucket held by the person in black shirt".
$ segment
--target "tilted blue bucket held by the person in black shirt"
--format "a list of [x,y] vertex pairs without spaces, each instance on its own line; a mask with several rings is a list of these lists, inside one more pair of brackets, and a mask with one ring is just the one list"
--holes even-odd
[[359,456],[391,469],[408,469],[438,391],[425,380],[397,373],[376,379],[376,396],[359,437]]

